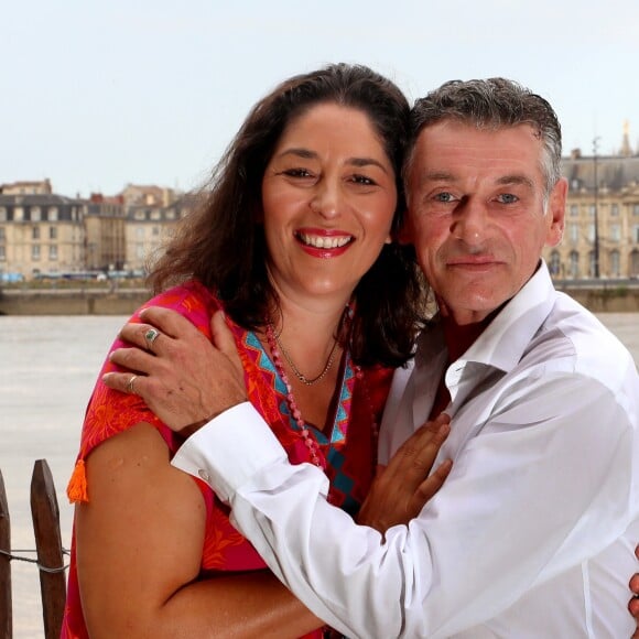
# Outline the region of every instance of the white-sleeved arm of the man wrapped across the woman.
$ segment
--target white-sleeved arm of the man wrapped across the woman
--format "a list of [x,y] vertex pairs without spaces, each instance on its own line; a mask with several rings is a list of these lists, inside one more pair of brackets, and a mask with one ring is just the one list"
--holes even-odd
[[[555,414],[550,392],[572,408]],[[537,423],[526,424],[530,414]],[[271,568],[349,636],[473,627],[600,552],[629,523],[632,429],[609,391],[587,379],[540,379],[466,445],[420,517],[385,539],[329,506],[322,473],[289,465],[261,423],[228,416],[241,437],[236,430],[221,441],[229,429],[205,429],[176,465],[209,473]],[[178,461],[189,450],[191,468]]]

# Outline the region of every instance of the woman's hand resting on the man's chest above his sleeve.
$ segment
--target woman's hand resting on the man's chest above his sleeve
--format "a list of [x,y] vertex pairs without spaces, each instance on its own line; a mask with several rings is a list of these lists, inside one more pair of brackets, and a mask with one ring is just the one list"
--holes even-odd
[[442,413],[436,420],[426,422],[401,445],[386,468],[378,469],[361,505],[358,523],[385,533],[391,526],[408,523],[420,513],[453,467],[447,459],[427,476],[448,436],[450,421],[451,418]]

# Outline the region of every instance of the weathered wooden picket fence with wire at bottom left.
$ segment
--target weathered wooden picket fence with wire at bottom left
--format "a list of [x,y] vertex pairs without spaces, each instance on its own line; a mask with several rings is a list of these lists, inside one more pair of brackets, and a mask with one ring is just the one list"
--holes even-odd
[[18,557],[11,551],[11,519],[0,472],[0,639],[13,636],[11,561],[32,561],[40,571],[42,617],[45,639],[59,637],[66,598],[65,551],[59,533],[59,509],[46,459],[37,459],[31,476],[31,516],[36,557]]

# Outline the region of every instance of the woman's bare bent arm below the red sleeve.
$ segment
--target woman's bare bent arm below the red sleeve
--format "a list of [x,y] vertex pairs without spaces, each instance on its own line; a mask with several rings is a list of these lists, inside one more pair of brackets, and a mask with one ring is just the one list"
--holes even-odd
[[204,501],[153,426],[99,445],[87,479],[76,548],[91,637],[299,637],[322,625],[268,571],[194,581]]

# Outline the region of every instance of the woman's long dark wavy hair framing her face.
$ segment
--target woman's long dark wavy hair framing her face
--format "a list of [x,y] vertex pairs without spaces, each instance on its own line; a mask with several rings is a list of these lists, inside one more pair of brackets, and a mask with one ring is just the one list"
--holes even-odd
[[[262,176],[284,129],[326,102],[369,117],[396,171],[398,209],[392,230],[399,229],[405,208],[401,165],[409,104],[393,83],[365,66],[331,65],[283,82],[252,108],[199,193],[199,205],[181,220],[154,266],[149,281],[156,292],[195,278],[216,293],[225,312],[240,326],[257,329],[266,325],[278,297],[267,273],[263,229],[257,221],[262,210]],[[385,245],[354,297],[354,361],[365,366],[404,364],[413,353],[424,299],[412,248]]]

